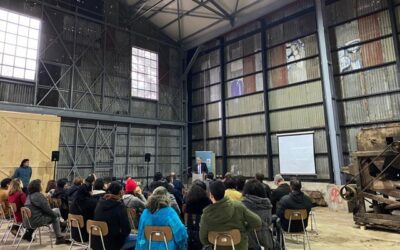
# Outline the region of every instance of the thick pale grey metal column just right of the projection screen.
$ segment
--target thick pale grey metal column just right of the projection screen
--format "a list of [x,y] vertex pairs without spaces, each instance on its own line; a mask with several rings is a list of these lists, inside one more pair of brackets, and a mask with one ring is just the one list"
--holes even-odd
[[[343,166],[343,150],[340,136],[339,116],[337,111],[337,97],[333,79],[333,69],[329,46],[328,30],[324,20],[325,1],[315,0],[318,42],[320,49],[320,64],[322,73],[322,87],[324,94],[325,120],[329,134],[328,154],[331,155],[331,180],[334,177],[336,184],[341,184],[340,167]],[[332,173],[333,172],[333,173]]]

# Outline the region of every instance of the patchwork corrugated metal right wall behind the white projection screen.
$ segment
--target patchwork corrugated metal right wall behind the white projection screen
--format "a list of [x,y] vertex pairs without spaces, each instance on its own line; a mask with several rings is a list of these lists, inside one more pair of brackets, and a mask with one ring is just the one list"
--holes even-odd
[[[395,50],[399,45],[393,39],[399,33],[393,30],[386,0],[326,2],[343,153],[345,163],[349,163],[348,155],[356,150],[356,134],[361,128],[400,121],[398,61],[396,65],[399,58]],[[399,5],[400,1],[394,1],[398,27]],[[265,44],[261,42],[262,32],[265,32]],[[210,43],[215,49],[210,55],[207,54],[211,50],[207,50],[203,58],[217,57],[217,48],[223,46],[220,56],[224,56],[226,63],[222,79],[226,98],[220,101],[218,85],[217,99],[226,107],[226,117],[222,118],[226,138],[218,140],[226,140],[227,170],[247,176],[257,171],[267,173],[266,159],[271,157],[274,174],[279,173],[277,134],[314,131],[317,179],[331,179],[314,1],[295,1],[218,41]],[[266,51],[265,65],[263,50]],[[221,69],[217,69],[214,79],[219,77]],[[195,81],[198,78],[196,73],[192,74],[195,88],[201,88]],[[268,89],[263,88],[264,80]],[[204,96],[196,98],[196,102],[203,103]],[[211,101],[207,98],[205,103]],[[198,121],[205,115],[212,119],[204,109],[193,108],[192,112]],[[220,118],[221,113],[217,114]],[[202,141],[203,131],[202,123],[194,125],[192,138]],[[271,156],[267,153],[268,144]],[[206,148],[197,141],[193,141],[193,148],[212,150],[208,139]],[[218,150],[223,152],[221,148]]]

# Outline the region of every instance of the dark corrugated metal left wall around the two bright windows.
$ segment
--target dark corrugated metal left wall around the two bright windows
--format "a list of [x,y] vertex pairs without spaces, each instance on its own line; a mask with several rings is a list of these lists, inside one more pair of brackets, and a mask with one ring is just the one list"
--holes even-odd
[[[24,0],[0,4],[42,20],[37,94],[34,82],[0,80],[0,102],[156,121],[185,120],[182,58],[177,47],[167,45],[171,40],[161,33],[156,34],[159,41],[148,39],[146,34],[154,35],[155,29],[144,21],[130,27],[144,36],[119,28],[126,22],[124,17],[131,18],[119,1],[77,3],[80,7],[97,5],[98,13],[85,12],[66,2],[53,4],[47,1],[44,5],[30,5]],[[158,101],[131,97],[132,46],[159,55]],[[146,175],[145,153],[152,154],[151,176],[154,169],[179,175],[185,165],[183,138],[182,126],[62,118],[57,176],[68,176],[75,166],[82,176],[96,172],[98,176],[129,174],[140,179]]]

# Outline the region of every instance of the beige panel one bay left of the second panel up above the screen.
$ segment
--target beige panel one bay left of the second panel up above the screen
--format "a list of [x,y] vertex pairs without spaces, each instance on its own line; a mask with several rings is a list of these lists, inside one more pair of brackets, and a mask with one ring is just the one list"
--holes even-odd
[[225,102],[225,105],[227,117],[264,111],[264,94],[230,99]]

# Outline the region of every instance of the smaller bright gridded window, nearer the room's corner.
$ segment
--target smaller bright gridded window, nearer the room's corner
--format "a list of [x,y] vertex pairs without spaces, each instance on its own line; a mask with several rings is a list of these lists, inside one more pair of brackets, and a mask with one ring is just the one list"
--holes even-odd
[[132,96],[158,100],[158,54],[132,48]]

